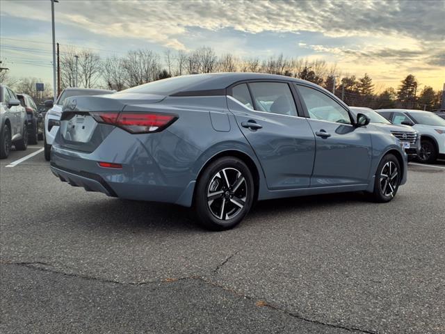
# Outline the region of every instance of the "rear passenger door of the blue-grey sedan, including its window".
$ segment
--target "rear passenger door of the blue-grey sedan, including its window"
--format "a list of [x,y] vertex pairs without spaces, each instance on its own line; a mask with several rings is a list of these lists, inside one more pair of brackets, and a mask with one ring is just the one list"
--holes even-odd
[[256,81],[229,88],[227,104],[266,175],[268,188],[309,187],[315,138],[298,115],[287,82]]

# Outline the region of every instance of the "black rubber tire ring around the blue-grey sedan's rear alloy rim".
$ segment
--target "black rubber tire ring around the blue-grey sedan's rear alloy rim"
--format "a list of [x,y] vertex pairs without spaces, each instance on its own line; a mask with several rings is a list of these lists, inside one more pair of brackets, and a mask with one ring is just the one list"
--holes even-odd
[[[245,205],[240,213],[238,213],[232,219],[222,221],[213,216],[209,209],[209,206],[207,205],[207,189],[213,175],[215,175],[219,170],[222,170],[223,168],[230,167],[236,168],[243,174],[248,188],[248,196],[245,200]],[[198,221],[204,228],[207,228],[209,230],[228,230],[230,228],[234,228],[234,226],[238,225],[238,223],[243,220],[245,215],[248,214],[248,212],[250,211],[253,200],[254,181],[252,173],[250,173],[248,166],[246,166],[243,161],[235,157],[221,157],[220,159],[213,161],[209,166],[207,166],[197,182],[194,203],[195,212],[197,214]]]

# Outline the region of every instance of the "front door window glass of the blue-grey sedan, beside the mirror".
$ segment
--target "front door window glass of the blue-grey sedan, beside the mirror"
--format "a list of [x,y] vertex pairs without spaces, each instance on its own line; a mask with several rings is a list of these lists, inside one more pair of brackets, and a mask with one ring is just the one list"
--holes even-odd
[[310,118],[350,124],[348,111],[327,95],[306,86],[298,86],[298,91],[306,104]]

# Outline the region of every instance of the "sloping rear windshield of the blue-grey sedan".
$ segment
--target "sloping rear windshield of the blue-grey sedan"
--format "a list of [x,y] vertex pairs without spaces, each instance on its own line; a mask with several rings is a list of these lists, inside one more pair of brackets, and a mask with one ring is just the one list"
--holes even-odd
[[179,92],[185,88],[190,88],[202,84],[205,81],[210,80],[211,77],[203,77],[202,75],[184,75],[182,77],[174,77],[168,79],[162,79],[149,82],[126,90],[121,90],[119,93],[142,93],[142,94],[154,94],[154,95],[171,95],[172,93]]

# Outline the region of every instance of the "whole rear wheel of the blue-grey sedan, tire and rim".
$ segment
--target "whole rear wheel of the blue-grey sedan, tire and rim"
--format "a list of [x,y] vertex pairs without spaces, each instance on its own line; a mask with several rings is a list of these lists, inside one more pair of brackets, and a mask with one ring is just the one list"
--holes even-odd
[[[213,198],[209,200],[212,193]],[[197,182],[195,212],[200,225],[208,230],[234,228],[248,214],[253,201],[252,173],[235,157],[213,161]]]

